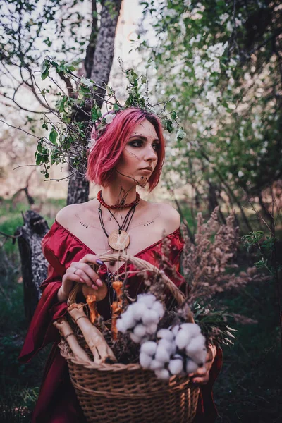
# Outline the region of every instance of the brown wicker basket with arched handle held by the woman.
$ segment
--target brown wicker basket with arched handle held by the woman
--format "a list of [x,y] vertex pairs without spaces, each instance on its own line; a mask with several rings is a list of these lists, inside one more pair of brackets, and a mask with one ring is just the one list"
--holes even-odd
[[[159,271],[152,264],[129,255],[99,258],[104,262],[118,260],[133,263],[137,269]],[[176,301],[183,302],[180,290],[165,274],[162,278]],[[190,379],[172,376],[169,381],[161,381],[140,364],[80,362],[64,339],[59,348],[68,362],[71,381],[87,422],[190,423],[194,419],[199,388],[193,386]]]

